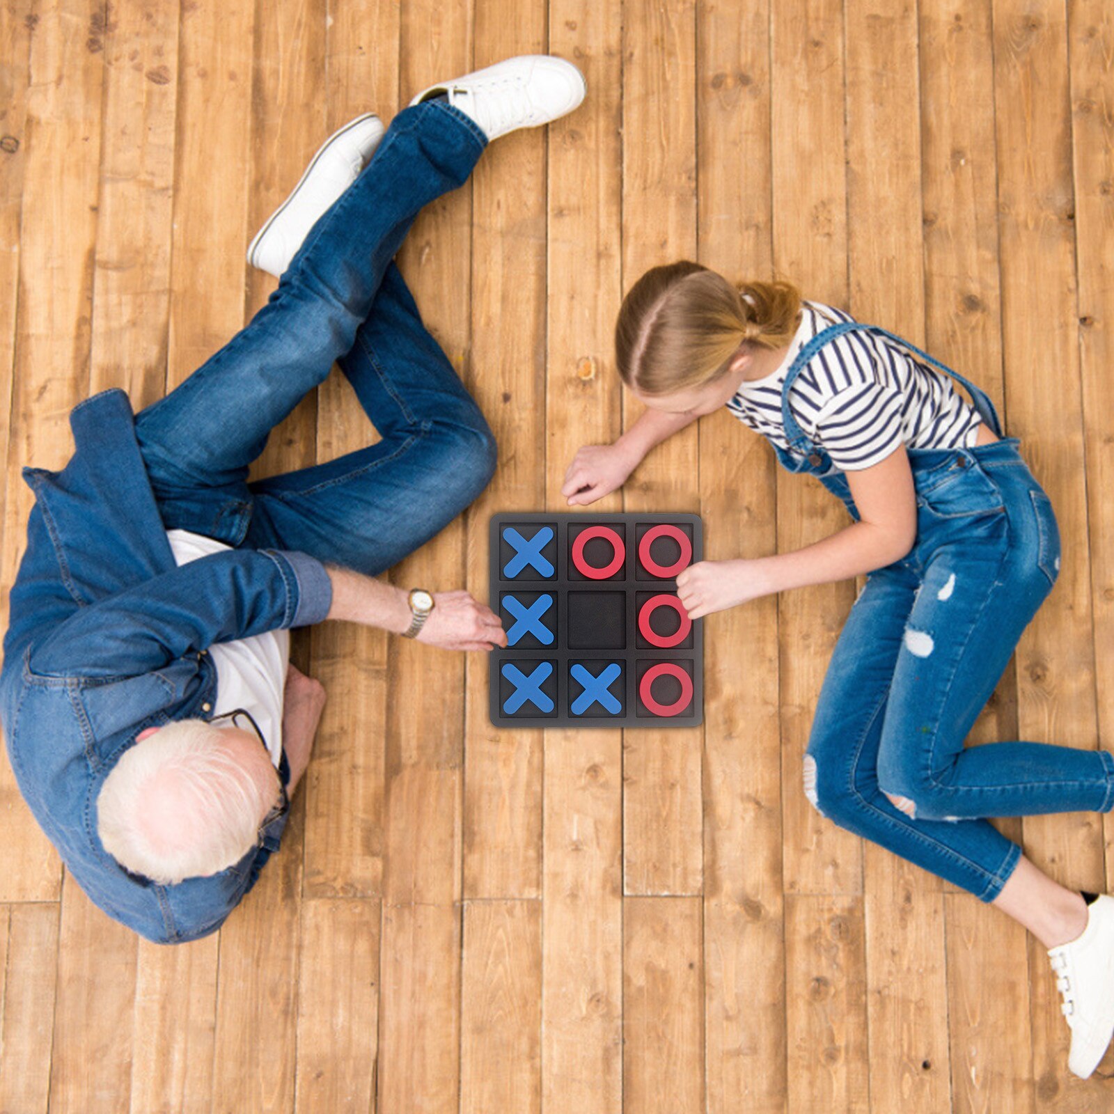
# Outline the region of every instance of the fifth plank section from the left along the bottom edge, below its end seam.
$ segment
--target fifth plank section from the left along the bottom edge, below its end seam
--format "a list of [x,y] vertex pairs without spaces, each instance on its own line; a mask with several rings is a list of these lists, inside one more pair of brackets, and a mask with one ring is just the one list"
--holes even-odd
[[302,903],[299,1114],[374,1110],[380,913],[378,901]]

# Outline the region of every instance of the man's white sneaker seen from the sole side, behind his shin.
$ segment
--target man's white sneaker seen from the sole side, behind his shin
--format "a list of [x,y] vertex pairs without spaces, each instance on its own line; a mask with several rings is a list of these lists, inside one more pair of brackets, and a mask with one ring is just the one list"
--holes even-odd
[[255,234],[247,262],[280,277],[319,217],[355,182],[385,130],[378,116],[367,113],[334,131],[310,160],[290,197]]

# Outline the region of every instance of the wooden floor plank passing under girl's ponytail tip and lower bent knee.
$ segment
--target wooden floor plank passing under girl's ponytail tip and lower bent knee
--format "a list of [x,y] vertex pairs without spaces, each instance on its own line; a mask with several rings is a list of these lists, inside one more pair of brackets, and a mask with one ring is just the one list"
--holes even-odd
[[[841,0],[771,9],[771,135],[774,270],[807,299],[847,304]],[[792,136],[792,143],[779,141]],[[778,473],[778,548],[800,549],[850,519],[814,480]],[[850,582],[778,599],[785,891],[858,893],[862,844],[824,820],[798,786],[820,685],[854,598]]]

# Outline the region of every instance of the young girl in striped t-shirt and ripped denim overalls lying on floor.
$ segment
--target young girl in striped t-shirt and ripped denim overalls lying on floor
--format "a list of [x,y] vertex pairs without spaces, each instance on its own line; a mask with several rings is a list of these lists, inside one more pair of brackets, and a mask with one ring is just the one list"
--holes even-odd
[[1017,439],[974,383],[786,283],[739,291],[694,263],[654,267],[624,300],[615,345],[647,410],[614,444],[580,449],[563,494],[593,502],[726,404],[785,468],[843,500],[850,526],[793,553],[694,565],[677,578],[681,600],[697,618],[868,574],[824,678],[804,791],[822,815],[1042,940],[1072,1028],[1068,1065],[1088,1076],[1114,1032],[1114,898],[1057,885],[984,818],[1108,811],[1114,756],[964,747],[1059,570],[1052,505]]

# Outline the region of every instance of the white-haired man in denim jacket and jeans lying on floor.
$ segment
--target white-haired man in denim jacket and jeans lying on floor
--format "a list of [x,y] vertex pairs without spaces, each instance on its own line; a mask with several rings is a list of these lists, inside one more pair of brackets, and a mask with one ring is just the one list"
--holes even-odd
[[[148,939],[214,931],[278,846],[323,704],[287,667],[287,628],[506,643],[467,593],[373,578],[495,467],[391,261],[490,139],[583,97],[575,67],[527,57],[427,89],[385,134],[352,121],[253,242],[250,260],[282,278],[251,324],[137,417],[118,390],[82,402],[66,468],[25,473],[36,507],[0,674],[9,754],[74,878]],[[334,361],[382,439],[248,482]]]

